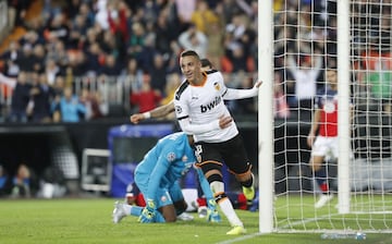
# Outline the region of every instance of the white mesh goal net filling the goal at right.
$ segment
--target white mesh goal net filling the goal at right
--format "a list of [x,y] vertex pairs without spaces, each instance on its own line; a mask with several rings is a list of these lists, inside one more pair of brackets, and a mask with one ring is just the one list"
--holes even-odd
[[273,71],[259,70],[273,73],[274,133],[272,151],[260,144],[260,168],[274,161],[261,232],[392,232],[392,1],[272,2],[271,23],[259,13],[273,26]]

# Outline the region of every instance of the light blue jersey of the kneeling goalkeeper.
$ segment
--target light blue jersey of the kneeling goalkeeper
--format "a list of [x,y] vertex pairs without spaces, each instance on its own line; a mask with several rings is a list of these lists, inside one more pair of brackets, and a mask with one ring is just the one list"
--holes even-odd
[[[135,175],[138,185],[148,185],[146,199],[154,199],[158,188],[170,187],[196,162],[195,152],[183,132],[170,134],[158,141],[138,163]],[[135,178],[136,179],[136,178]]]

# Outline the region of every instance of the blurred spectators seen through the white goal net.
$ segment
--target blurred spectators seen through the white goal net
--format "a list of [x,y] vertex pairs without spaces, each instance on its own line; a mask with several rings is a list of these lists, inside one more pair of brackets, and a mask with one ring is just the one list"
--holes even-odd
[[[326,69],[338,66],[338,1],[274,3],[277,115],[290,115],[280,114],[280,107],[301,115],[324,89]],[[391,113],[392,99],[391,9],[391,1],[353,0],[348,19],[353,101],[366,109],[375,103],[372,109],[385,113]]]

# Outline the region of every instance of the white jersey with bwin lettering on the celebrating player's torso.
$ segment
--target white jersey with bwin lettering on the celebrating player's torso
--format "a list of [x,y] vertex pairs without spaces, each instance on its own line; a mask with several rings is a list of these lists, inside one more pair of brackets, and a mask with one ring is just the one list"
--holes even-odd
[[[189,119],[192,125],[207,125],[230,115],[222,96],[226,93],[223,76],[218,71],[209,71],[200,86],[184,82],[176,90],[174,98],[175,115],[180,121]],[[184,131],[184,129],[182,129]],[[185,131],[186,132],[186,131]],[[234,122],[226,129],[212,129],[208,132],[194,132],[196,142],[220,143],[238,134]]]

